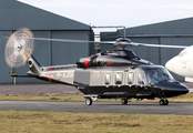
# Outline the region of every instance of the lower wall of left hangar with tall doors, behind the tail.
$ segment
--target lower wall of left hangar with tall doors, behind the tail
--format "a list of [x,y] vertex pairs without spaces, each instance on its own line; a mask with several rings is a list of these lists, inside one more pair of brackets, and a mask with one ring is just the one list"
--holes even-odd
[[[75,39],[88,40],[90,38],[89,31],[32,31],[35,38],[53,38],[53,39]],[[26,75],[29,71],[29,66],[26,64],[21,68],[11,69],[4,61],[4,47],[11,31],[0,31],[0,83],[12,83],[12,78],[9,72],[16,72],[17,74]],[[44,65],[61,65],[61,64],[74,64],[79,58],[89,57],[93,54],[90,52],[89,43],[68,43],[68,42],[50,42],[50,41],[34,41],[33,55],[38,61]],[[93,50],[94,51],[94,50]],[[24,83],[47,83],[33,78],[17,78],[17,84]]]

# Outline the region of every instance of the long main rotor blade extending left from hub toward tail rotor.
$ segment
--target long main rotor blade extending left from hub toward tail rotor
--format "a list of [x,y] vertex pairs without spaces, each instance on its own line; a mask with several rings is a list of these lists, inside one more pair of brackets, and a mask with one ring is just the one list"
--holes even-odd
[[40,40],[40,41],[58,41],[58,42],[77,42],[77,43],[105,43],[105,44],[114,44],[114,42],[98,42],[98,41],[84,41],[84,40],[68,40],[68,39],[45,39],[45,38],[24,38],[29,40]]

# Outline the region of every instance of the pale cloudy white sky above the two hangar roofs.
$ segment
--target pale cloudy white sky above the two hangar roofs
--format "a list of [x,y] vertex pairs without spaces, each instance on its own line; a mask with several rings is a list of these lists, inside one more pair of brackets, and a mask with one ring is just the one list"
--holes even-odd
[[[89,25],[126,28],[193,17],[193,0],[18,0]],[[94,32],[109,29],[93,29]],[[110,29],[115,31],[116,29]]]

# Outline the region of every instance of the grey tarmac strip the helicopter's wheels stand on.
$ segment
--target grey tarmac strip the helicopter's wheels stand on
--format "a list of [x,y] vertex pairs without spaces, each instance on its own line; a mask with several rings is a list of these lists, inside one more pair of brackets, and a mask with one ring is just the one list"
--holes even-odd
[[93,102],[88,106],[84,102],[0,101],[0,110],[193,115],[193,103],[160,105],[156,102],[129,102],[122,105],[121,102],[114,101]]

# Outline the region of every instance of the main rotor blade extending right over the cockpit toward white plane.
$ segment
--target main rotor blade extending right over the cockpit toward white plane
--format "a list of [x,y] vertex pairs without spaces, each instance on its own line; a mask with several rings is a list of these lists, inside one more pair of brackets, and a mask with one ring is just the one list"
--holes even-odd
[[146,44],[146,43],[135,43],[135,42],[131,42],[129,45],[142,45],[142,47],[155,47],[155,48],[179,48],[179,49],[189,48],[186,45]]

